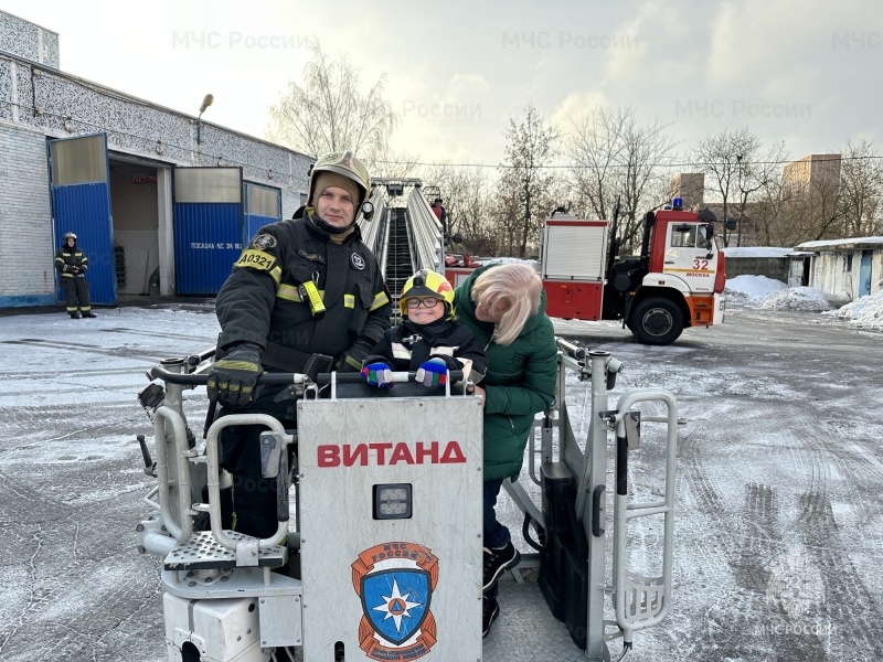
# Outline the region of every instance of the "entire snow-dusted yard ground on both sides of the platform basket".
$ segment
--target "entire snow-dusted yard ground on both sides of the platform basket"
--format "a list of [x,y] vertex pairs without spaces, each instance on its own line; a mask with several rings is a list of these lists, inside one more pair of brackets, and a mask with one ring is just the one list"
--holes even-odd
[[[725,324],[688,330],[668,348],[636,344],[613,322],[556,321],[626,363],[611,403],[663,387],[689,420],[671,612],[636,634],[629,660],[881,660],[883,300],[819,313],[802,307],[808,292],[744,278],[727,284],[745,299]],[[135,398],[146,370],[213,344],[217,324],[195,305],[99,313],[0,318],[2,662],[166,659],[159,563],[134,549],[156,482],[141,470],[135,435],[151,427]],[[585,437],[586,385],[570,386]],[[200,420],[203,396],[185,409]],[[650,427],[630,463],[639,496],[660,485]],[[658,531],[630,538],[635,565],[652,565]],[[486,660],[514,659],[507,647],[524,638],[514,597],[502,595]]]

